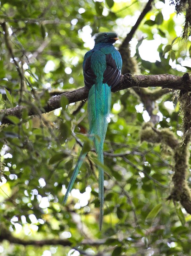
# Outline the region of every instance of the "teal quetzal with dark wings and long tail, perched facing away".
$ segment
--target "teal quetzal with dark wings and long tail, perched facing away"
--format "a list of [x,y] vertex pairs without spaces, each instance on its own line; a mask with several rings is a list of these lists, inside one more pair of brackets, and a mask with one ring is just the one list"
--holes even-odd
[[[103,164],[103,142],[108,126],[109,112],[111,110],[111,88],[120,81],[122,59],[120,53],[113,44],[118,40],[116,33],[99,33],[95,36],[95,46],[87,52],[83,61],[84,83],[88,87],[88,120],[89,139],[94,141],[96,154],[99,162]],[[82,151],[74,168],[72,177],[64,197],[64,203],[72,189],[80,167],[87,153]],[[104,174],[103,168],[98,166],[100,217],[99,227],[101,230],[103,221],[104,200]]]

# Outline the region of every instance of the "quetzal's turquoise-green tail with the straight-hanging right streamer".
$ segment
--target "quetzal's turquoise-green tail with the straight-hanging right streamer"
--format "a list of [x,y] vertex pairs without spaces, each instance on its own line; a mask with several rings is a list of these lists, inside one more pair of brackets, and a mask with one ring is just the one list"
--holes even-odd
[[[98,160],[103,164],[103,143],[108,126],[108,115],[111,106],[111,87],[108,84],[95,84],[88,94],[88,119],[92,133],[98,135],[94,137],[94,144]],[[104,173],[103,168],[98,166],[98,184],[100,217],[99,228],[102,228],[103,222],[103,202],[104,202]]]

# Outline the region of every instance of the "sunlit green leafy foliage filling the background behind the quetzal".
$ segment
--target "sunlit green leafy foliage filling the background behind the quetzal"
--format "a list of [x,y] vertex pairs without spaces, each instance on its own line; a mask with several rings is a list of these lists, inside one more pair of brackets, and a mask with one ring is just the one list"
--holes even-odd
[[[45,243],[37,247],[10,246],[11,241],[5,240],[0,246],[2,255],[190,255],[191,217],[180,204],[166,201],[171,190],[173,150],[164,143],[140,141],[147,111],[133,90],[112,94],[104,144],[101,232],[94,151],[88,153],[67,204],[62,203],[81,142],[87,144],[87,150],[92,148],[85,136],[86,104],[78,109],[80,103],[68,105],[63,98],[62,109],[39,115],[52,95],[84,85],[82,61],[89,50],[90,34],[115,30],[123,42],[144,4],[1,1],[0,108],[21,104],[33,107],[37,114],[29,118],[25,110],[22,119],[9,116],[11,124],[1,127],[1,230],[9,230],[23,241],[70,242],[70,246]],[[156,1],[141,22],[132,40],[132,55],[143,75],[182,76],[187,71],[184,63],[190,55],[190,42],[177,35],[180,24],[175,24],[176,14],[164,20],[162,7],[162,2]],[[141,44],[156,38],[161,42],[157,49],[160,61],[141,59]],[[169,128],[181,139],[177,95],[169,92],[159,96],[153,114],[160,116],[158,129]]]

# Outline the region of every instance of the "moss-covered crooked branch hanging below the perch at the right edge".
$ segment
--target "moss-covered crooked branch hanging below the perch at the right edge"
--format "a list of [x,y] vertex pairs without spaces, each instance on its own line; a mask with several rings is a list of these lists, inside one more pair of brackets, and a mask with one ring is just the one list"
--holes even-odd
[[167,128],[158,130],[150,122],[145,123],[141,130],[141,141],[151,143],[163,143],[172,148],[173,154],[173,188],[168,197],[169,200],[179,201],[191,214],[191,191],[187,184],[187,172],[189,168],[189,144],[191,139],[191,93],[180,91],[180,108],[182,119],[182,142]]

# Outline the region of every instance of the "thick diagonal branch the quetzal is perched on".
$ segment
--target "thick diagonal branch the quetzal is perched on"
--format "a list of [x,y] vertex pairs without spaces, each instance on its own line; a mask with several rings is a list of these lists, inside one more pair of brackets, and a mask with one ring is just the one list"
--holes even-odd
[[[134,76],[131,74],[125,74],[121,76],[120,83],[112,91],[117,92],[130,87],[163,87],[168,89],[191,91],[191,77],[188,73],[184,74],[182,77],[169,74],[148,76]],[[47,102],[47,105],[43,108],[44,111],[42,111],[42,113],[47,113],[57,108],[60,108],[60,100],[63,96],[68,99],[69,103],[86,100],[88,97],[88,89],[82,87],[75,91],[65,92],[61,95],[51,98]],[[9,115],[21,118],[24,108],[27,108],[30,116],[38,114],[36,113],[34,108],[29,106],[17,106],[14,108],[3,109],[0,111],[0,115],[3,116],[1,123],[9,123],[9,121],[6,119],[6,116]]]

